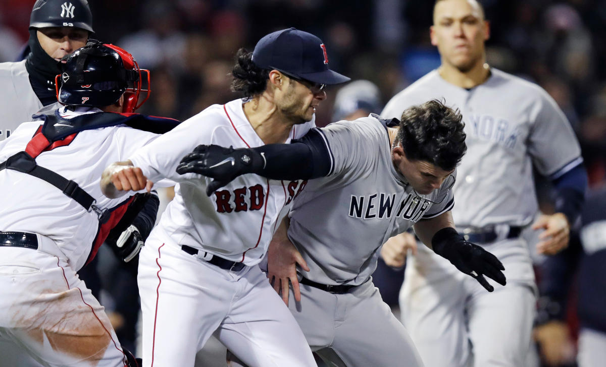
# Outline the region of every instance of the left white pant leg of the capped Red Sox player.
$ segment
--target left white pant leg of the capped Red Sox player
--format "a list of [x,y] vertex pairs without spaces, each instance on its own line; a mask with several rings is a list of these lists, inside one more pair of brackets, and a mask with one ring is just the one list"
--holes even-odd
[[238,285],[221,268],[162,241],[158,231],[139,256],[144,366],[193,367]]

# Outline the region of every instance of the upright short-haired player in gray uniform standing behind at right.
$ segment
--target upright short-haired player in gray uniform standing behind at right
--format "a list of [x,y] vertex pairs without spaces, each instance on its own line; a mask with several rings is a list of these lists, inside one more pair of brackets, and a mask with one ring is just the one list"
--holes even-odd
[[[551,178],[558,196],[556,213],[540,216],[531,227],[544,230],[539,252],[567,245],[584,200],[581,151],[564,114],[537,85],[487,65],[489,35],[477,1],[438,0],[430,36],[441,66],[396,94],[381,114],[396,117],[431,98],[461,110],[468,152],[453,188],[453,218],[468,241],[501,259],[508,280],[507,287],[485,293],[444,259],[418,248],[407,264],[400,307],[427,367],[470,361],[477,367],[524,365],[536,299],[530,254],[520,235],[538,210],[533,167]],[[396,252],[405,249],[391,253]],[[385,261],[400,265],[389,256]]]

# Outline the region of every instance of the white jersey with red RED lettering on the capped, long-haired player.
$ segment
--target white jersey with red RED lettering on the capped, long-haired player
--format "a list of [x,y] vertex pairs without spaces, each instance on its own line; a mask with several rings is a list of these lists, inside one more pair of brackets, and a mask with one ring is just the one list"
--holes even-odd
[[[178,182],[155,230],[177,244],[204,250],[231,261],[255,265],[265,255],[276,224],[288,212],[301,181],[267,180],[242,175],[208,197],[207,177],[179,175],[176,167],[196,146],[215,144],[234,148],[264,145],[244,114],[243,100],[213,105],[128,157],[151,181]],[[293,126],[286,141],[300,138],[314,126]]]

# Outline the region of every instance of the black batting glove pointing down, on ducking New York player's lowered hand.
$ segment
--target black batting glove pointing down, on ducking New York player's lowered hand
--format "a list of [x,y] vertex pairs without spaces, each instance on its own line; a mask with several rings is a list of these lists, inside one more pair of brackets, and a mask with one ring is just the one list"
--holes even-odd
[[431,239],[433,251],[451,262],[462,273],[468,274],[487,291],[494,290],[484,275],[493,281],[505,285],[505,270],[501,261],[484,248],[465,241],[452,227],[442,228]]

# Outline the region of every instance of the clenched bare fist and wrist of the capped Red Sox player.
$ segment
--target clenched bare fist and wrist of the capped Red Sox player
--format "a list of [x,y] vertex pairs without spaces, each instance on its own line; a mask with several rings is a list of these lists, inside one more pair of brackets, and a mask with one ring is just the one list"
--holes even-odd
[[101,192],[110,199],[118,198],[127,191],[151,190],[153,182],[133,166],[131,161],[121,161],[110,164],[101,174]]

